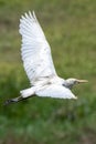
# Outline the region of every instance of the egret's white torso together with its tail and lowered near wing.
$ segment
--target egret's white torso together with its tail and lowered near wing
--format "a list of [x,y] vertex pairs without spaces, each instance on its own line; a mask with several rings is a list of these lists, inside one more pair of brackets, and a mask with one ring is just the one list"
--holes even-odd
[[30,89],[22,90],[21,95],[28,97],[36,94],[38,96],[51,96],[60,99],[76,99],[68,89],[66,81],[58,76],[42,78]]

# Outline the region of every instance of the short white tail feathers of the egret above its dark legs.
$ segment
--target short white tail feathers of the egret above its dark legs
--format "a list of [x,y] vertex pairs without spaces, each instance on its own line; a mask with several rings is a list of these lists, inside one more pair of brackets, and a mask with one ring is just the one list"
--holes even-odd
[[34,95],[34,88],[22,90],[20,91],[20,94],[22,97],[29,97],[31,95]]

